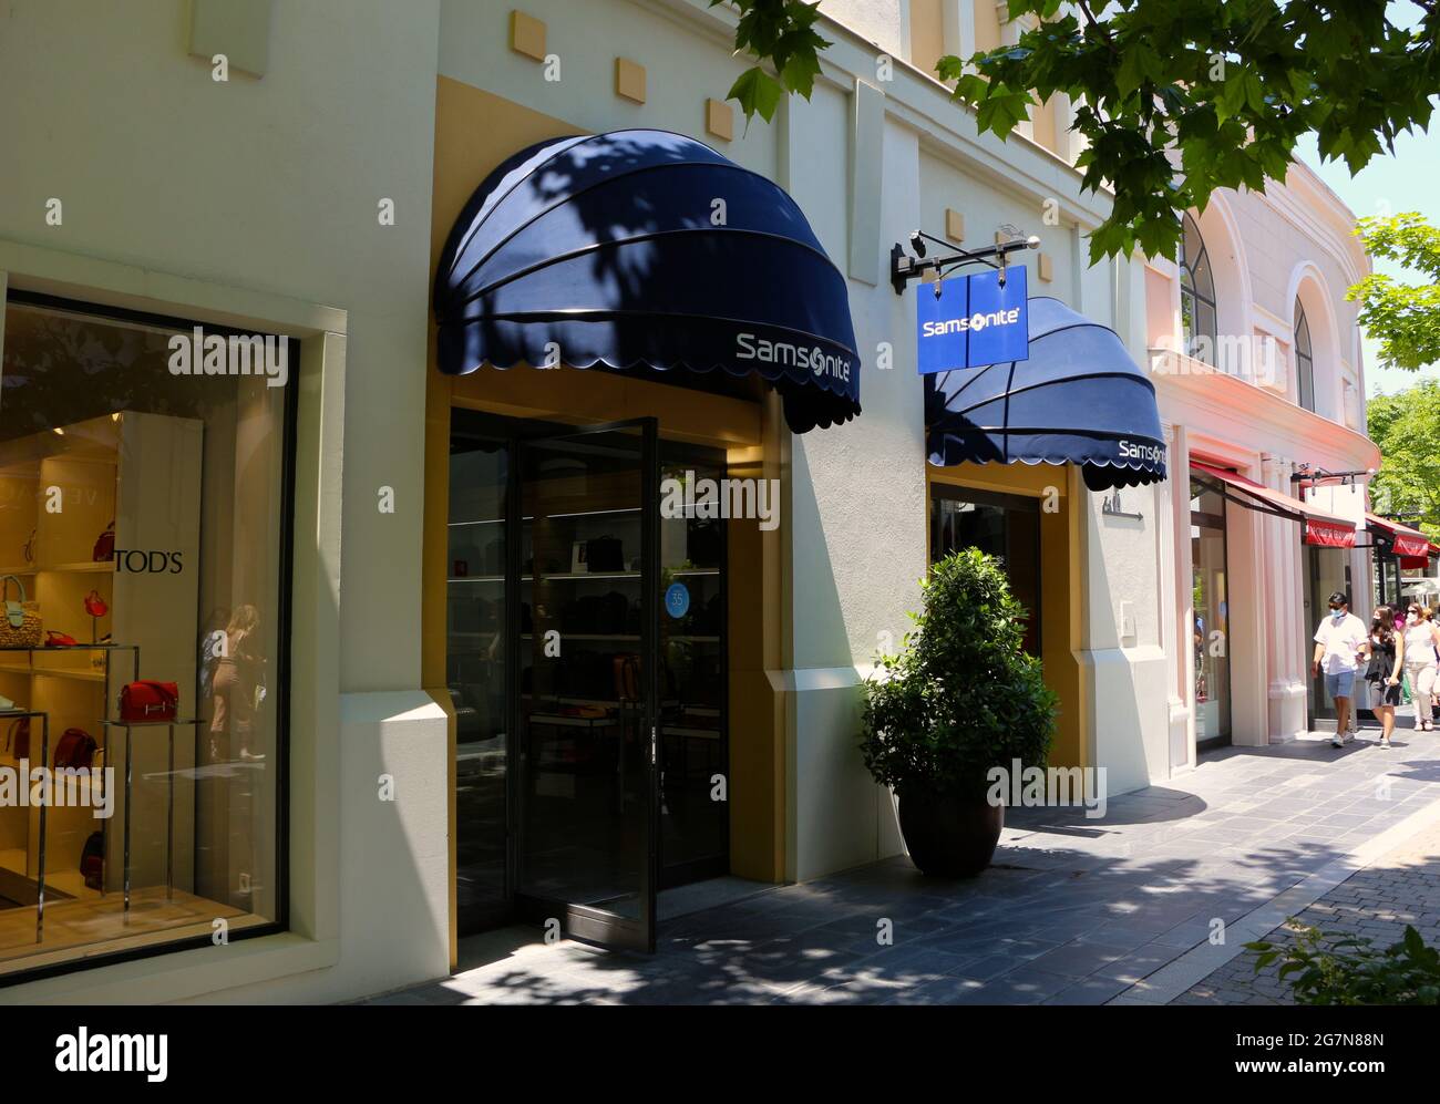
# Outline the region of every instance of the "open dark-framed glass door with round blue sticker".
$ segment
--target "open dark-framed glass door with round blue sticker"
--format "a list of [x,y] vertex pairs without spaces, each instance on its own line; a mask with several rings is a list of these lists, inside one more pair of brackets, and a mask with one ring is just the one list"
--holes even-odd
[[516,892],[579,940],[655,946],[655,422],[516,442]]

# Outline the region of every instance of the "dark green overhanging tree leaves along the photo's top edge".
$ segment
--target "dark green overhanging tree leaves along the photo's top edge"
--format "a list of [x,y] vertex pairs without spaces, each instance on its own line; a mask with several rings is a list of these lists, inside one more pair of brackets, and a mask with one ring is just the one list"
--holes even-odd
[[[757,65],[730,98],[769,119],[785,92],[808,96],[819,72],[818,4],[737,6],[736,49]],[[1440,0],[1410,10],[1414,26],[1382,0],[1009,0],[1028,27],[1014,46],[936,68],[981,131],[1001,138],[1034,104],[1068,95],[1084,187],[1115,191],[1092,261],[1136,246],[1172,256],[1181,212],[1204,210],[1215,189],[1283,180],[1302,135],[1313,131],[1320,155],[1355,173],[1397,134],[1428,125]]]

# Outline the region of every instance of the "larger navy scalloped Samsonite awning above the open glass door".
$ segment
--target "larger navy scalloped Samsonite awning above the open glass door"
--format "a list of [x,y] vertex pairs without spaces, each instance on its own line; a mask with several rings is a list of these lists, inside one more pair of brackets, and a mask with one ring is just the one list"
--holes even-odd
[[439,367],[759,373],[804,433],[860,413],[845,278],[779,186],[681,134],[554,138],[491,173],[435,273]]

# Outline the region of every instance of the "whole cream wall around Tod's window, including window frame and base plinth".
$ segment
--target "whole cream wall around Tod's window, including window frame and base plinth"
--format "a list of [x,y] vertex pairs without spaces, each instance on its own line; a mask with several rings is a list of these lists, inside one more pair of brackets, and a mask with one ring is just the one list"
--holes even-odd
[[[340,999],[448,966],[446,725],[418,692],[415,616],[439,3],[278,3],[265,76],[228,83],[187,56],[189,12],[0,12],[0,268],[17,288],[43,275],[76,298],[305,334],[291,377],[292,931],[13,986],[6,1002]],[[50,197],[60,226],[45,223]],[[347,435],[361,445],[341,458]],[[395,514],[377,511],[380,487]],[[377,800],[382,772],[400,780],[393,803]]]

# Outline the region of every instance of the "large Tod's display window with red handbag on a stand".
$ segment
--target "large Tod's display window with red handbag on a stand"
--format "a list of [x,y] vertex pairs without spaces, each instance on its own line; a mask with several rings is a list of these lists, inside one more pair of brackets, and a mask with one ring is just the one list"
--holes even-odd
[[274,930],[300,345],[4,321],[0,977]]

